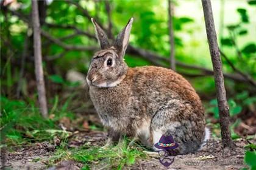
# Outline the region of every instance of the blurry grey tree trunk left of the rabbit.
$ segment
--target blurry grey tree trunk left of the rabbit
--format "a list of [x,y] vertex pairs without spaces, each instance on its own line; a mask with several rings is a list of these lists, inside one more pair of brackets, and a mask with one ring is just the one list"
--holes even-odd
[[43,117],[48,117],[44,78],[43,78],[43,66],[41,56],[41,35],[40,35],[40,22],[38,15],[37,0],[32,0],[32,20],[34,30],[34,56],[35,56],[35,77],[37,79],[38,101],[40,104],[40,110]]

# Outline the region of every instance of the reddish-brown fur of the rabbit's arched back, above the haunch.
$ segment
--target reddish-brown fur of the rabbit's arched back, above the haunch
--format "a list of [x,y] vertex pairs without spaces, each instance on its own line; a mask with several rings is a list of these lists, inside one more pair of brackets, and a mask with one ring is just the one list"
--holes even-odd
[[152,109],[151,114],[171,99],[191,104],[199,116],[204,115],[201,100],[190,83],[178,73],[163,67],[130,68],[127,73],[133,95]]

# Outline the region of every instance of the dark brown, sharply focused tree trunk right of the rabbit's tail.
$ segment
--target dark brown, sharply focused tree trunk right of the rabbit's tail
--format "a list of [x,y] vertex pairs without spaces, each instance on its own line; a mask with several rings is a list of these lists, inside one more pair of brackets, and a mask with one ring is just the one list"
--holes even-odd
[[224,147],[233,147],[233,141],[229,129],[229,106],[227,104],[226,90],[224,86],[224,77],[222,73],[222,63],[219,53],[215,25],[213,20],[212,4],[210,0],[202,0],[204,10],[205,28],[208,38],[208,44],[213,64],[213,75],[217,92],[219,122],[221,124],[221,138]]

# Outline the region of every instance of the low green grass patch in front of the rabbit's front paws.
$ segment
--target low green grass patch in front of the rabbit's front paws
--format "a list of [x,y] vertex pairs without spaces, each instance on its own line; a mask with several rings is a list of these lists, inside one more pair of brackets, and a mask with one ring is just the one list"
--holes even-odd
[[94,163],[101,161],[98,166],[105,166],[105,169],[123,169],[124,165],[133,165],[137,159],[146,158],[141,146],[130,144],[130,142],[128,138],[125,138],[118,145],[109,148],[91,146],[90,143],[76,149],[61,147],[55,151],[50,162],[54,163],[69,158],[84,163],[82,169],[90,169],[90,166],[97,166]]

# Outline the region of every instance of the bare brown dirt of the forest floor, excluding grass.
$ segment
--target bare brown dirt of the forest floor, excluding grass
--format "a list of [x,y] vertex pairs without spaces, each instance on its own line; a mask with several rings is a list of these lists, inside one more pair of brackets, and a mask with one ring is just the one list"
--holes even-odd
[[[69,147],[76,147],[91,142],[92,144],[104,144],[106,137],[104,132],[82,132],[74,134],[69,139]],[[216,141],[219,142],[219,141]],[[250,142],[255,142],[250,141]],[[236,150],[230,153],[222,150],[220,144],[209,142],[201,151],[196,154],[177,155],[174,163],[166,168],[159,162],[158,155],[150,152],[146,160],[137,160],[132,166],[124,169],[241,169],[246,167],[243,163],[244,148],[247,140],[235,141]],[[5,167],[10,169],[80,169],[81,163],[74,161],[60,161],[58,165],[49,167],[47,162],[55,150],[54,144],[48,142],[35,143],[32,146],[14,148],[13,151],[5,153]],[[2,153],[4,154],[4,153]],[[107,169],[104,165],[91,167],[91,169]],[[1,166],[2,167],[2,166]]]

